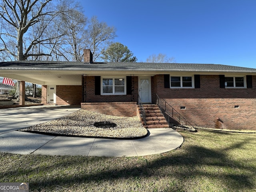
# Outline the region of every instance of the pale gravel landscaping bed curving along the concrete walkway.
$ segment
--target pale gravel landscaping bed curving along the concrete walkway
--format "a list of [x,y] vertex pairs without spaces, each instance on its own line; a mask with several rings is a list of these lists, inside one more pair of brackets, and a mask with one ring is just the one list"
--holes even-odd
[[[101,126],[96,127],[95,123]],[[106,126],[104,125],[106,122]],[[116,126],[111,127],[111,124]],[[20,129],[20,131],[66,134],[72,136],[137,138],[148,134],[137,117],[119,117],[78,110],[67,116],[42,124]]]

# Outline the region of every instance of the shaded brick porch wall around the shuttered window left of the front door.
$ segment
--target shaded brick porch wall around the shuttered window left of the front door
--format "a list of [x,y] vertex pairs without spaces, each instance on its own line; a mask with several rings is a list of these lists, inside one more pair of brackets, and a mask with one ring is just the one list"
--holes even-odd
[[95,95],[95,77],[84,76],[83,102],[137,102],[138,77],[132,76],[131,95]]

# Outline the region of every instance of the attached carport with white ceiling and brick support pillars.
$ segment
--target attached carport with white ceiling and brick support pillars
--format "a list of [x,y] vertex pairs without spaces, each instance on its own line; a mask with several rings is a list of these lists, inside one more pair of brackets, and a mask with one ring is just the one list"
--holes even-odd
[[42,85],[42,103],[46,104],[51,86],[82,86],[82,65],[84,62],[0,62],[0,76],[20,82],[20,106],[25,106],[25,82]]

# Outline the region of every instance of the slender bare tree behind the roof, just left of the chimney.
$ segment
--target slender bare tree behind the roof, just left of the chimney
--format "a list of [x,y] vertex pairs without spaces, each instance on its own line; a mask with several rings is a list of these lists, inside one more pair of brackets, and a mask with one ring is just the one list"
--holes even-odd
[[[65,36],[59,39],[53,54],[56,60],[82,61],[83,50],[86,46],[87,18],[83,14],[82,6],[72,1],[62,4],[64,14],[60,15],[60,30]],[[56,24],[58,26],[58,23]]]

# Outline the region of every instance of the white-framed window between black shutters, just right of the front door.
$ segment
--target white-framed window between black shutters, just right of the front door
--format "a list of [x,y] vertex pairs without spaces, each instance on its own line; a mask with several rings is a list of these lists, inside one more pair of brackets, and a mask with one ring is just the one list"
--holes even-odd
[[193,76],[172,76],[170,75],[171,88],[194,88]]

